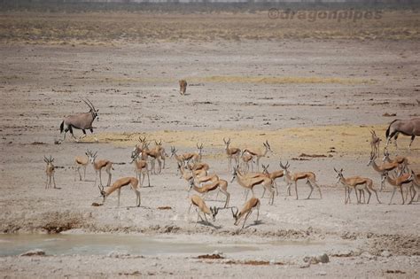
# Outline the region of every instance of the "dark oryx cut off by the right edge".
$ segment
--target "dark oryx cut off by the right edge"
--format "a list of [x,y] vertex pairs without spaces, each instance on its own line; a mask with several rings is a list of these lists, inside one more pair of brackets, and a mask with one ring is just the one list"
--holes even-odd
[[411,120],[393,120],[389,127],[386,129],[386,146],[390,143],[391,139],[394,139],[395,147],[397,146],[397,138],[399,134],[404,136],[411,136],[408,149],[411,149],[411,143],[413,143],[416,136],[420,136],[420,118],[414,118]]

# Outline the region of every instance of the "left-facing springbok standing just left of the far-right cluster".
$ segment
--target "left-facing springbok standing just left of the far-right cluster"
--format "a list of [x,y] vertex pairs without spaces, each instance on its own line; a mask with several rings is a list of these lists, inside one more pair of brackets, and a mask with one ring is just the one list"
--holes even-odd
[[[377,190],[373,188],[373,182],[371,179],[364,178],[361,176],[352,176],[352,177],[344,178],[343,169],[338,171],[334,167],[334,171],[337,173],[337,178],[338,178],[337,182],[341,182],[341,184],[345,186],[345,190],[344,190],[344,204],[345,205],[347,204],[347,202],[350,203],[350,193],[352,192],[353,189],[354,189],[354,192],[356,193],[356,199],[357,199],[358,204],[361,203],[362,190],[368,191],[368,194],[369,194],[368,204],[369,204],[369,200],[371,196],[370,191],[373,191],[375,195],[377,196]],[[357,197],[357,190],[359,190],[360,192],[359,197]],[[363,198],[364,198],[364,194],[363,194]],[[378,197],[377,197],[377,203],[379,204],[381,203]]]

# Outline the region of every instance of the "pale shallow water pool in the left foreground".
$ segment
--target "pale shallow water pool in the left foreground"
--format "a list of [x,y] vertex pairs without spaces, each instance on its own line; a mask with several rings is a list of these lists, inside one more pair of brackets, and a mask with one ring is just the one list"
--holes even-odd
[[47,255],[106,255],[120,252],[140,255],[255,251],[247,244],[200,244],[162,236],[124,235],[0,235],[0,256],[42,249]]

